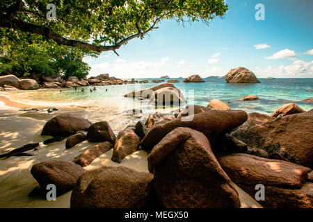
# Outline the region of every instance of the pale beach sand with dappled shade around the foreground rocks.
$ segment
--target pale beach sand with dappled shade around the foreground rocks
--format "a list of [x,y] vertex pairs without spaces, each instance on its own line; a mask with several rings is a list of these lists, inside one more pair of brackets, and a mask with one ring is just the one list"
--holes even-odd
[[[25,144],[43,142],[49,137],[40,135],[42,127],[49,119],[61,113],[61,111],[52,114],[47,112],[22,112],[0,102],[0,153]],[[83,150],[96,144],[85,141],[66,150],[65,140],[47,146],[42,145],[38,148],[38,151],[28,151],[28,153],[35,154],[31,157],[9,157],[6,160],[0,160],[0,207],[70,207],[71,191],[58,196],[56,201],[28,196],[33,188],[38,186],[30,173],[33,164],[45,160],[72,161]],[[148,172],[147,154],[144,151],[137,151],[125,157],[120,164],[111,161],[112,153],[112,150],[104,153],[85,169],[91,170],[102,166],[116,167],[122,165],[136,171]],[[242,207],[261,207],[242,189],[239,187],[236,187],[236,189],[239,191]]]

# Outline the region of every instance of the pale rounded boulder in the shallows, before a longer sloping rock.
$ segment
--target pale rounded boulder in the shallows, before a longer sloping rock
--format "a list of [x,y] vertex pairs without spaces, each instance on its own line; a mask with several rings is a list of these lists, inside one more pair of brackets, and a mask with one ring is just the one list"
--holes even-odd
[[175,87],[163,87],[152,93],[150,102],[156,105],[179,105],[180,103],[186,103],[186,99],[179,89]]

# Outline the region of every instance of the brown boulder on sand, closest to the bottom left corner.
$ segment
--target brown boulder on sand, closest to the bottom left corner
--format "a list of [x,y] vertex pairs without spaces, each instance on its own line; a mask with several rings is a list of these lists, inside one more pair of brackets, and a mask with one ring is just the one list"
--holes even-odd
[[54,184],[57,196],[71,191],[83,173],[85,173],[83,167],[70,161],[45,161],[31,168],[31,175],[37,180],[41,189],[47,192],[47,185]]

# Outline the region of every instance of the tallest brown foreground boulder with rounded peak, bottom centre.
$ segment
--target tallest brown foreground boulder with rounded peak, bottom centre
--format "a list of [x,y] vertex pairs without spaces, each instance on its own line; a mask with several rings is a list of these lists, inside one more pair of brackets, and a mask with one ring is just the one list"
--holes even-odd
[[209,140],[191,128],[175,128],[148,156],[153,187],[166,208],[240,207],[232,181],[218,164]]

